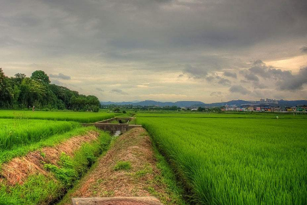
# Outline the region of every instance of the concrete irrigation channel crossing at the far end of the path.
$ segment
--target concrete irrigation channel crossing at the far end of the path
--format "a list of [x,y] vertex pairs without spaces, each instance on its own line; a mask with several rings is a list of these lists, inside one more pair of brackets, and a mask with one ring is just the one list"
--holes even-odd
[[[83,123],[82,126],[95,126],[96,128],[103,131],[111,131],[112,133],[120,131],[122,134],[133,129],[140,128],[141,125],[129,125],[129,121],[135,119],[134,117],[114,117],[111,119],[106,119],[103,121],[98,121],[95,123]],[[117,121],[118,124],[112,123],[112,121]]]

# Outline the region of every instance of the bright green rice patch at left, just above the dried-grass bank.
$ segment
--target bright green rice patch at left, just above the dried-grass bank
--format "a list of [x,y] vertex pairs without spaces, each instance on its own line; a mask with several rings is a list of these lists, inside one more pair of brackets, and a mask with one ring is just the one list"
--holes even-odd
[[29,145],[78,127],[78,122],[73,121],[0,119],[0,151]]

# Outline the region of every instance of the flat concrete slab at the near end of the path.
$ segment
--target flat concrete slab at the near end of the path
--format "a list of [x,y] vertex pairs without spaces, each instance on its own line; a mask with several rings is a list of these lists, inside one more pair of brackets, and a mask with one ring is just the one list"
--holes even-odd
[[72,198],[73,205],[163,205],[156,197]]

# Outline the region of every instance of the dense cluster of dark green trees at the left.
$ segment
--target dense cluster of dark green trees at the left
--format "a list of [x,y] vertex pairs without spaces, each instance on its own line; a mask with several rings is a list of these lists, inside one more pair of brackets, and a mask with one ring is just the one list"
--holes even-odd
[[40,70],[31,77],[17,73],[8,77],[0,68],[0,108],[45,110],[99,111],[96,96],[81,95],[77,91],[50,84],[49,76]]

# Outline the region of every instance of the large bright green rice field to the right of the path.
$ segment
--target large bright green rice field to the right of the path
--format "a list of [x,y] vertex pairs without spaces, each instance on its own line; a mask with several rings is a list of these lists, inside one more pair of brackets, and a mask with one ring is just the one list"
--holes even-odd
[[199,204],[307,204],[307,119],[138,113]]

